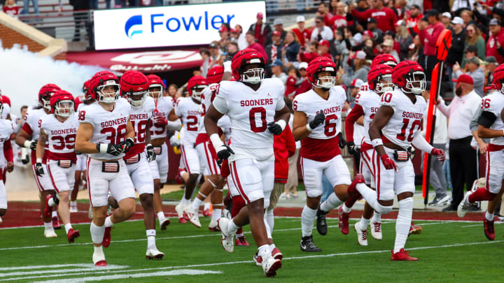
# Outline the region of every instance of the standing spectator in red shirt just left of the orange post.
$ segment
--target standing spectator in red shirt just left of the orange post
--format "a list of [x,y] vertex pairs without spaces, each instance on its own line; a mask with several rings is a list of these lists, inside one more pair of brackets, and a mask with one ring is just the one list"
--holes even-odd
[[423,55],[425,55],[425,61],[419,62],[419,64],[423,67],[423,70],[426,70],[426,80],[430,80],[430,75],[432,75],[432,72],[428,70],[433,70],[435,64],[437,64],[436,43],[437,38],[444,29],[439,15],[438,10],[429,10],[427,12],[428,26],[424,21],[421,21],[418,26],[420,41],[423,43]]

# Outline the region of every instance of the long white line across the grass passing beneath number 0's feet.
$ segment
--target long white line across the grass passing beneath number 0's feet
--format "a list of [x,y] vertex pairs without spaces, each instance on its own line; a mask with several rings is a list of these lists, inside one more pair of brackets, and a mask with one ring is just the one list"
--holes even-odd
[[[431,247],[412,247],[408,248],[408,250],[416,250],[416,249],[439,249],[439,248],[447,248],[447,247],[463,247],[463,246],[470,246],[470,245],[488,245],[488,244],[493,244],[496,242],[504,242],[504,240],[497,240],[497,241],[486,241],[486,242],[468,242],[468,243],[460,243],[460,244],[452,244],[452,245],[440,245],[440,246],[431,246]],[[378,254],[378,253],[383,253],[383,252],[391,252],[390,249],[383,249],[383,250],[377,250],[377,251],[365,251],[365,252],[344,252],[344,253],[338,253],[338,254],[316,254],[312,256],[293,256],[293,257],[288,257],[288,258],[283,258],[282,260],[292,260],[292,259],[312,259],[312,258],[323,258],[323,257],[332,257],[332,256],[352,256],[352,255],[359,255],[359,254]],[[143,268],[143,269],[137,269],[137,270],[115,270],[115,273],[132,273],[132,272],[144,272],[144,271],[151,271],[151,270],[167,270],[167,269],[179,269],[179,268],[197,268],[197,267],[209,267],[209,266],[226,266],[226,265],[231,265],[231,264],[240,264],[240,263],[252,263],[252,261],[230,261],[230,262],[222,262],[222,263],[206,263],[206,264],[194,264],[191,266],[168,266],[164,268]],[[101,274],[101,273],[110,273],[108,270],[105,271],[99,271],[99,272],[91,272],[92,274]],[[90,273],[73,273],[72,275],[87,275]],[[151,273],[148,273],[151,274]],[[137,274],[127,274],[128,276],[133,276]],[[146,273],[140,273],[139,274],[142,277],[146,277]],[[60,274],[60,275],[44,275],[44,276],[29,276],[29,277],[17,277],[17,278],[9,278],[4,281],[14,281],[14,280],[23,280],[23,279],[36,279],[36,278],[41,278],[41,277],[58,277],[58,276],[65,276],[64,282],[69,282],[73,280],[78,280],[78,277],[75,278],[70,278],[69,274]],[[93,277],[94,278],[94,277]],[[126,277],[125,277],[126,278]],[[58,282],[63,282],[63,281],[58,281]]]

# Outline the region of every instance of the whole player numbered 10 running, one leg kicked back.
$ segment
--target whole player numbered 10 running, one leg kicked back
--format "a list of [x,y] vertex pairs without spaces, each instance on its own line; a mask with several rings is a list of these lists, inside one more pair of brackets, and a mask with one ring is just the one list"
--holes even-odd
[[376,191],[364,184],[362,175],[353,180],[349,194],[360,193],[375,211],[391,212],[394,191],[399,212],[395,222],[395,243],[392,261],[416,261],[405,252],[405,243],[412,224],[414,170],[408,147],[414,145],[444,160],[444,152],[429,145],[420,127],[426,101],[420,96],[426,88],[426,76],[414,61],[401,61],[392,70],[395,90],[381,94],[380,107],[372,119],[369,136],[374,152],[371,157]]

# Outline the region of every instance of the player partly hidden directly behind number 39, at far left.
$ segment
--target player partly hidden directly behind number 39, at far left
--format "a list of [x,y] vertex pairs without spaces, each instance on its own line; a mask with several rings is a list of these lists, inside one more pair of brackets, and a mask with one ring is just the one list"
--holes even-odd
[[[21,130],[18,132],[18,135],[16,136],[15,139],[16,143],[20,147],[27,147],[31,150],[31,168],[34,173],[38,191],[40,191],[41,214],[44,222],[45,238],[57,237],[54,229],[61,227],[59,226],[57,220],[57,212],[55,210],[52,212],[52,224],[51,224],[51,217],[46,217],[45,213],[43,213],[45,209],[46,196],[48,196],[49,194],[51,196],[55,196],[56,191],[52,186],[52,182],[48,174],[38,176],[35,171],[36,145],[38,140],[38,134],[40,133],[40,128],[38,127],[38,121],[40,121],[41,117],[50,114],[50,98],[52,94],[54,94],[58,90],[60,90],[59,87],[54,84],[48,84],[41,87],[40,91],[38,92],[38,103],[40,105],[36,108],[29,109],[27,111],[25,116],[25,124],[22,125]],[[45,156],[42,158],[42,168],[45,172],[47,172],[45,162],[48,153],[49,150],[45,150]]]

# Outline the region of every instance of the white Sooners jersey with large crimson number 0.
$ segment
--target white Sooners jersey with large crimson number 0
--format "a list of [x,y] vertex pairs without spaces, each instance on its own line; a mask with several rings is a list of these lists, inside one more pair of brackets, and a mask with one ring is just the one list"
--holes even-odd
[[235,154],[258,160],[274,158],[273,134],[267,124],[274,122],[276,111],[285,107],[284,92],[285,86],[278,78],[261,80],[257,91],[243,82],[221,82],[213,105],[230,118]]

